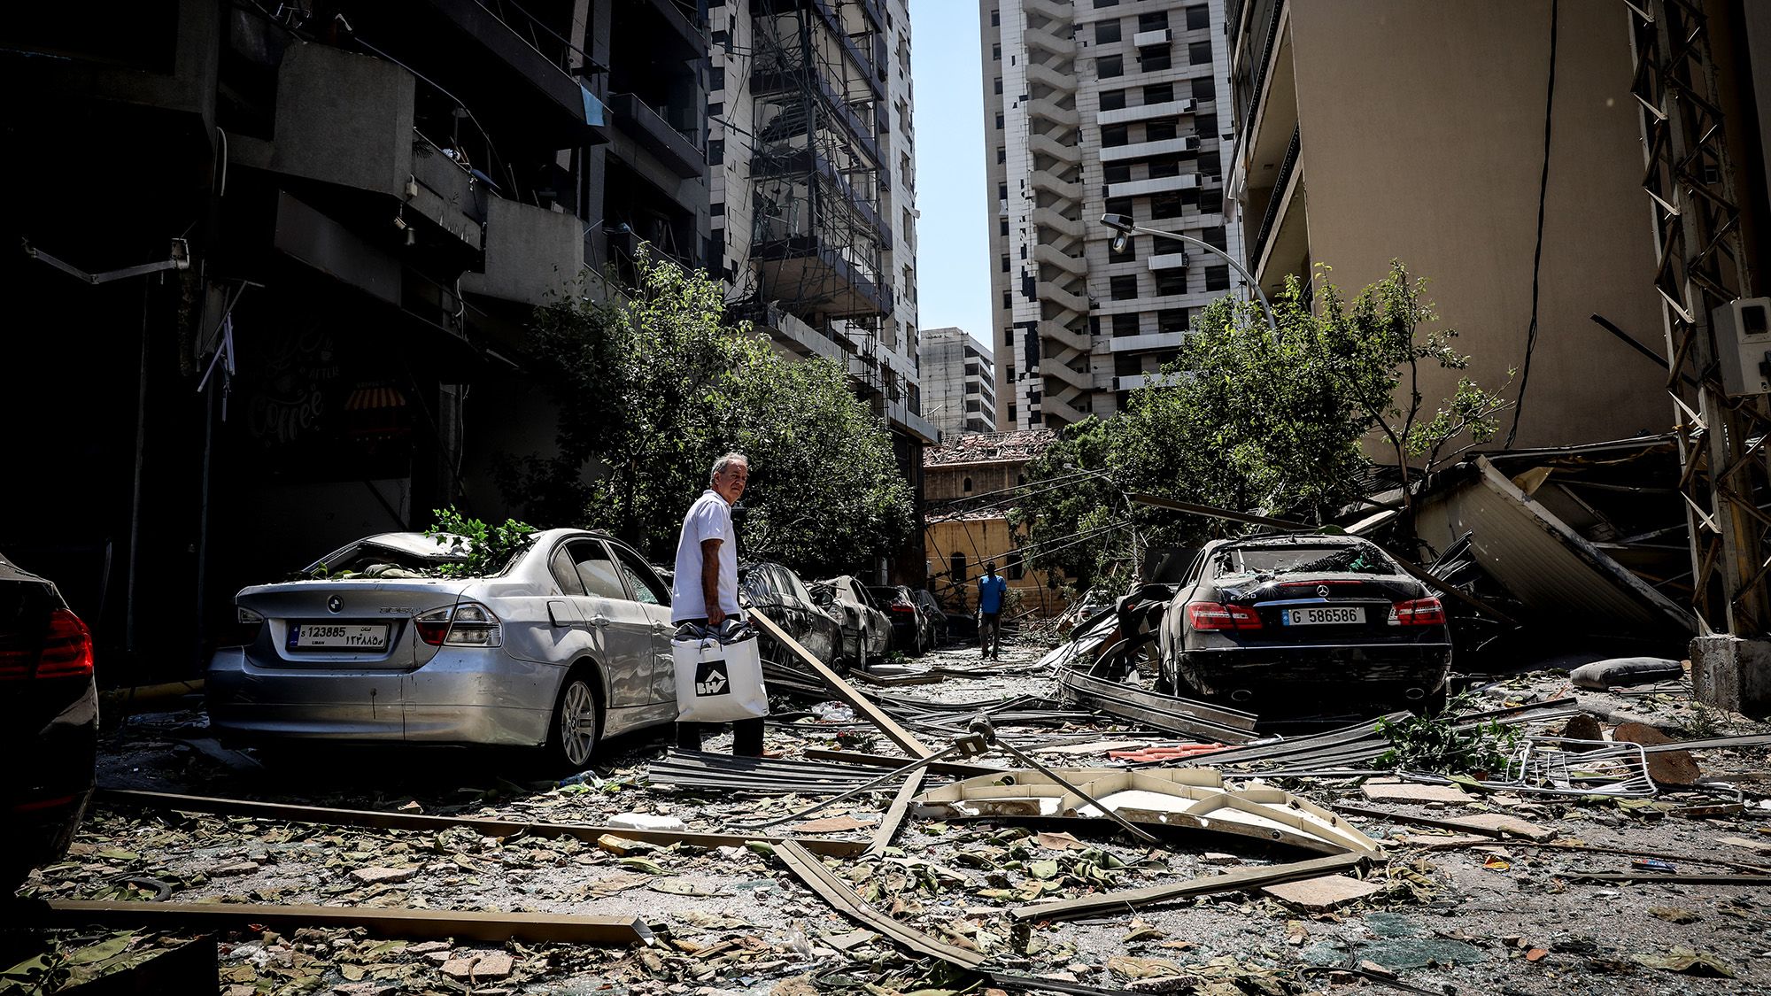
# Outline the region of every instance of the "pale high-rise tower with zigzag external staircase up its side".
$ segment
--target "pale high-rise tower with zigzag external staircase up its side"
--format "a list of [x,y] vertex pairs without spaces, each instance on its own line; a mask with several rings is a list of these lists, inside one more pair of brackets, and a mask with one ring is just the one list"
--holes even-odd
[[997,425],[1109,416],[1174,356],[1194,312],[1240,285],[1224,223],[1224,2],[979,0]]

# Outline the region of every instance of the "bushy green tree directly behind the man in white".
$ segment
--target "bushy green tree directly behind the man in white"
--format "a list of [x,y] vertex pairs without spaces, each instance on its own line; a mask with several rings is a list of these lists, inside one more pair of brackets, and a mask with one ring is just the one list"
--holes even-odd
[[560,454],[503,468],[530,519],[606,528],[668,560],[714,459],[740,450],[746,556],[834,572],[907,535],[910,489],[845,370],[783,360],[747,323],[726,324],[705,273],[643,259],[638,287],[553,301],[533,333],[558,372]]

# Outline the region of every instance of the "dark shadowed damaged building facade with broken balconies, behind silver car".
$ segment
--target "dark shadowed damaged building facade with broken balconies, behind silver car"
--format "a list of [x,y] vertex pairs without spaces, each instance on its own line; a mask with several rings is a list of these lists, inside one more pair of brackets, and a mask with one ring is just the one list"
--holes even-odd
[[0,548],[94,626],[101,681],[184,673],[266,571],[455,502],[503,514],[468,468],[553,443],[531,308],[639,239],[707,261],[705,74],[669,0],[39,5],[0,28],[0,78],[34,94],[4,126],[28,191],[9,363],[44,385],[0,411],[44,427],[12,459],[53,480],[7,489]]

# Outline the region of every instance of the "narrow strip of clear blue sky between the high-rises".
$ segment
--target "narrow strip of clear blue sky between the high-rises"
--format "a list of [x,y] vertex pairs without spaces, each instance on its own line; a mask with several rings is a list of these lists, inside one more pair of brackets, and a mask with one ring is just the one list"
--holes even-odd
[[990,218],[978,4],[910,0],[917,321],[990,346]]

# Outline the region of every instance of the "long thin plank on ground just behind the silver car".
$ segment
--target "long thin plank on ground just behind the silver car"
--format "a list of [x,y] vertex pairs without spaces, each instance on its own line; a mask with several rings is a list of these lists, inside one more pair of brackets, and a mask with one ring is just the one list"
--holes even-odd
[[[485,836],[572,836],[584,844],[595,844],[599,836],[613,833],[629,840],[648,844],[689,844],[694,847],[742,847],[751,840],[779,844],[781,836],[758,833],[689,833],[680,829],[630,829],[625,826],[590,826],[577,822],[519,822],[483,817],[432,817],[423,813],[386,813],[381,810],[333,810],[326,806],[292,806],[287,803],[259,803],[251,799],[221,799],[214,796],[177,796],[172,792],[142,792],[136,789],[99,789],[92,799],[112,806],[143,806],[161,810],[182,810],[189,813],[214,813],[236,817],[280,819],[289,822],[315,822],[326,826],[370,826],[377,829],[446,829],[466,826]],[[806,840],[809,849],[832,858],[854,858],[866,849],[861,840]]]

